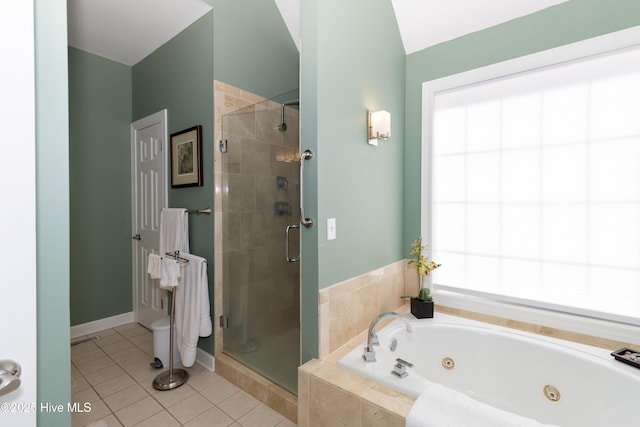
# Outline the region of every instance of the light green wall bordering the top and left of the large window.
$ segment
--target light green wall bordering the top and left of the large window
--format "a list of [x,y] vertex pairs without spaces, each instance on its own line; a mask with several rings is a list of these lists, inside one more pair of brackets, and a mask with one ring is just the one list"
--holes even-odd
[[637,0],[572,0],[408,55],[404,240],[420,233],[423,82],[636,25]]

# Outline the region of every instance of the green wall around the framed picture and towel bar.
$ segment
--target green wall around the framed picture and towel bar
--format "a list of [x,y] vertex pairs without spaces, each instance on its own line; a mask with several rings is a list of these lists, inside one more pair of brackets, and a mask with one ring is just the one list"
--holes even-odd
[[[167,173],[168,205],[213,209],[212,12],[133,66],[132,121],[164,108],[167,109],[169,134],[202,125],[204,185],[171,188],[171,176]],[[131,197],[131,192],[128,194]],[[189,244],[192,253],[207,259],[213,308],[213,215],[189,215]],[[213,354],[212,336],[200,339],[198,345]]]

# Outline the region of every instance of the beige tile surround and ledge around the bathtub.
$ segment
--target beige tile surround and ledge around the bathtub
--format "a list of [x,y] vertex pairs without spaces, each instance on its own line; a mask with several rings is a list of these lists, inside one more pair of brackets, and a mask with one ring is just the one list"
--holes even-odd
[[[403,281],[401,286],[389,283]],[[387,283],[385,288],[383,283]],[[397,288],[396,288],[397,286]],[[337,361],[366,340],[366,331],[375,315],[390,311],[397,295],[417,292],[415,270],[406,260],[374,272],[346,280],[319,292],[320,359],[311,360],[298,369],[298,425],[299,426],[404,426],[405,418],[415,398],[377,384],[337,366]],[[392,288],[393,291],[388,288]],[[404,289],[404,291],[400,291]],[[371,313],[353,310],[364,295]],[[386,305],[385,305],[386,304]],[[408,303],[395,311],[409,310]],[[374,313],[375,312],[375,313]],[[640,343],[625,343],[596,336],[568,332],[561,329],[501,318],[473,311],[437,304],[436,312],[465,317],[526,332],[587,344],[608,350],[622,347],[637,348]],[[428,321],[425,320],[425,321]],[[384,325],[381,325],[384,326]],[[355,332],[354,332],[355,331]]]

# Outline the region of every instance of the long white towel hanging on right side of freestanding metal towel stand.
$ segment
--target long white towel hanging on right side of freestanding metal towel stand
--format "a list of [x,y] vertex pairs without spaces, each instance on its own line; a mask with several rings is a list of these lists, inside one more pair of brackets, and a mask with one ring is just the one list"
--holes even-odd
[[173,294],[176,338],[182,364],[190,367],[196,360],[198,337],[207,337],[212,332],[207,260],[186,253],[180,256],[189,262],[180,264],[181,285]]

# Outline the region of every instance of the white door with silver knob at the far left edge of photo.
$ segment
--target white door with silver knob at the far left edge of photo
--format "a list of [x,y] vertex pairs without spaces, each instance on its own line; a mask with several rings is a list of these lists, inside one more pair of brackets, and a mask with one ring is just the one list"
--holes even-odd
[[[0,364],[10,359],[20,383],[0,372],[0,425],[36,425],[36,120],[33,2],[0,2]],[[0,367],[0,369],[2,369]],[[33,406],[31,406],[33,404]]]

